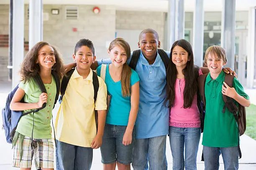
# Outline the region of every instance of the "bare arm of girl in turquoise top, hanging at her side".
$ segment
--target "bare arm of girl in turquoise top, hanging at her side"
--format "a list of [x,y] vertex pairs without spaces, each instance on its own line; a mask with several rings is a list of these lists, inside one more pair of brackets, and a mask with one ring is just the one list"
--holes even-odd
[[138,114],[139,98],[139,82],[136,82],[131,87],[131,111],[129,115],[128,125],[125,130],[125,134],[123,135],[123,145],[130,145],[132,142],[133,128]]

